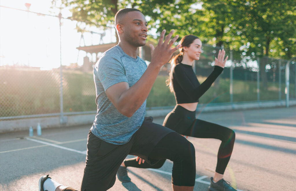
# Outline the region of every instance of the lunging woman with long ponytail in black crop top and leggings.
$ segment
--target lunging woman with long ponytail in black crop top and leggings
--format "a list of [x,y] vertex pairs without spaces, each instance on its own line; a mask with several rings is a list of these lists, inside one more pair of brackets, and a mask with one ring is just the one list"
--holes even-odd
[[[186,35],[181,39],[180,53],[171,61],[170,77],[167,84],[170,91],[174,93],[176,98],[176,106],[166,117],[163,126],[168,127],[181,135],[197,137],[197,138],[215,138],[221,140],[218,150],[218,161],[214,177],[211,177],[209,190],[211,191],[230,191],[235,190],[229,182],[223,179],[223,174],[229,162],[235,133],[233,130],[218,124],[206,122],[195,118],[195,110],[199,98],[210,88],[215,79],[221,74],[228,56],[224,59],[225,51],[219,50],[218,58],[215,58],[215,66],[213,72],[207,79],[200,84],[192,69],[194,60],[200,59],[202,53],[202,42],[194,35]],[[126,167],[138,168],[160,168],[163,166],[165,159],[158,161],[155,165],[147,162],[141,164],[141,159],[131,158],[123,162],[118,170],[118,179],[122,182],[129,182]]]

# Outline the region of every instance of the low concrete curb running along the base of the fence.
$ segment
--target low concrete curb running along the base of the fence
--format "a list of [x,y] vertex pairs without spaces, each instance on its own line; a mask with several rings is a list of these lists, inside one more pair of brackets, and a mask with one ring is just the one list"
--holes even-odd
[[[215,111],[235,111],[246,109],[263,109],[263,108],[275,108],[285,107],[286,101],[261,101],[261,102],[248,102],[248,103],[220,103],[220,104],[199,104],[197,106],[197,113],[201,112],[215,112]],[[296,106],[296,100],[290,100],[289,106]],[[171,107],[158,107],[147,108],[146,116],[163,117],[166,116],[174,106]],[[10,119],[0,120],[0,133],[29,130],[32,126],[34,134],[36,134],[37,124],[41,124],[41,128],[55,128],[55,127],[71,127],[79,125],[91,125],[94,122],[96,111],[90,114],[77,114],[77,115],[65,115],[63,121],[65,124],[60,124],[59,116],[48,117],[30,117],[22,119]]]

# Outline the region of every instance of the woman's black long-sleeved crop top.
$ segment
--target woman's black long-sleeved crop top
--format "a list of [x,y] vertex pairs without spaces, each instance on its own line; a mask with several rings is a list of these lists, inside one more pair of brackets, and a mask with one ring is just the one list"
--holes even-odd
[[200,84],[192,66],[182,63],[177,64],[173,68],[171,77],[177,104],[198,102],[198,99],[211,87],[222,71],[222,67],[215,66],[209,77]]

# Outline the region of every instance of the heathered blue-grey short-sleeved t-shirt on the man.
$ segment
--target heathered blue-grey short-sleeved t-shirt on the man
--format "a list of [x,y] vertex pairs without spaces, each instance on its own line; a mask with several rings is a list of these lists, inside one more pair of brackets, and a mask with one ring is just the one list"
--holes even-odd
[[94,66],[97,114],[91,132],[115,145],[127,143],[144,121],[146,100],[131,117],[121,114],[108,99],[105,91],[119,82],[133,86],[147,69],[146,62],[128,56],[120,46],[110,48]]

